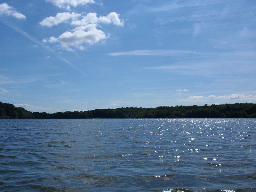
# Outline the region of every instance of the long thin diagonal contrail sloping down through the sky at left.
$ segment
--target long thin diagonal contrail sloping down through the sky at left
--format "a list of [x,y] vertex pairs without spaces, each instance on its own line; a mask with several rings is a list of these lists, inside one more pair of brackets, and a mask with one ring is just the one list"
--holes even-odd
[[87,77],[87,75],[81,71],[79,68],[77,68],[76,66],[74,66],[71,62],[69,62],[68,60],[66,60],[65,58],[61,57],[59,54],[57,54],[56,52],[54,52],[50,47],[46,46],[45,44],[41,43],[40,41],[38,41],[36,38],[34,38],[33,36],[29,35],[27,32],[22,31],[21,29],[13,26],[10,23],[7,23],[5,21],[2,21],[5,25],[7,25],[8,27],[12,28],[13,30],[17,31],[18,33],[20,33],[21,35],[27,37],[28,39],[30,39],[31,41],[34,41],[36,44],[40,45],[41,47],[43,47],[44,49],[48,50],[49,52],[51,52],[52,54],[54,54],[56,57],[58,57],[60,60],[64,61],[65,63],[67,63],[69,66],[73,67],[74,69],[76,69],[77,71],[79,71],[80,73],[82,73],[84,76]]

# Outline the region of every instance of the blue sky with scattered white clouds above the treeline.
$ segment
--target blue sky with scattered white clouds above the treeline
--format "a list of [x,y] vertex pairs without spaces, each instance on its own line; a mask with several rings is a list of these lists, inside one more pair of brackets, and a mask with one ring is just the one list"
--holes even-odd
[[0,38],[28,111],[256,103],[254,0],[6,0]]

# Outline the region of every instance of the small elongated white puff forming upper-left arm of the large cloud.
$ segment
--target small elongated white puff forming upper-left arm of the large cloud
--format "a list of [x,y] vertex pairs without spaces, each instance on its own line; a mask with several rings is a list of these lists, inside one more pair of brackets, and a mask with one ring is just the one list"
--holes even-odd
[[67,21],[70,19],[74,20],[80,16],[81,16],[81,14],[76,14],[74,12],[72,12],[72,13],[68,13],[68,12],[57,13],[55,17],[52,17],[52,16],[46,17],[39,24],[42,26],[52,27],[53,25],[58,25],[60,23],[63,23],[64,21]]

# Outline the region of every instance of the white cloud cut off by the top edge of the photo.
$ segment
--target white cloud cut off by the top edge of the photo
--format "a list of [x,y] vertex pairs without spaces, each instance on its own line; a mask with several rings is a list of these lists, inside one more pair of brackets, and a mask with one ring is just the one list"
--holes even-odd
[[70,10],[70,6],[76,7],[77,5],[86,5],[89,3],[94,4],[94,0],[46,0],[46,2],[51,2],[59,8],[66,8]]

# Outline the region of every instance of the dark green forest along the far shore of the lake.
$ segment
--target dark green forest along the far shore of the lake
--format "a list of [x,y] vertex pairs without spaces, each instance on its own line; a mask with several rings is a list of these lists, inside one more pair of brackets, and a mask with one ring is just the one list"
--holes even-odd
[[256,118],[256,104],[235,103],[210,106],[175,106],[156,108],[125,107],[66,111],[30,112],[10,103],[0,102],[0,119],[86,119],[86,118]]

